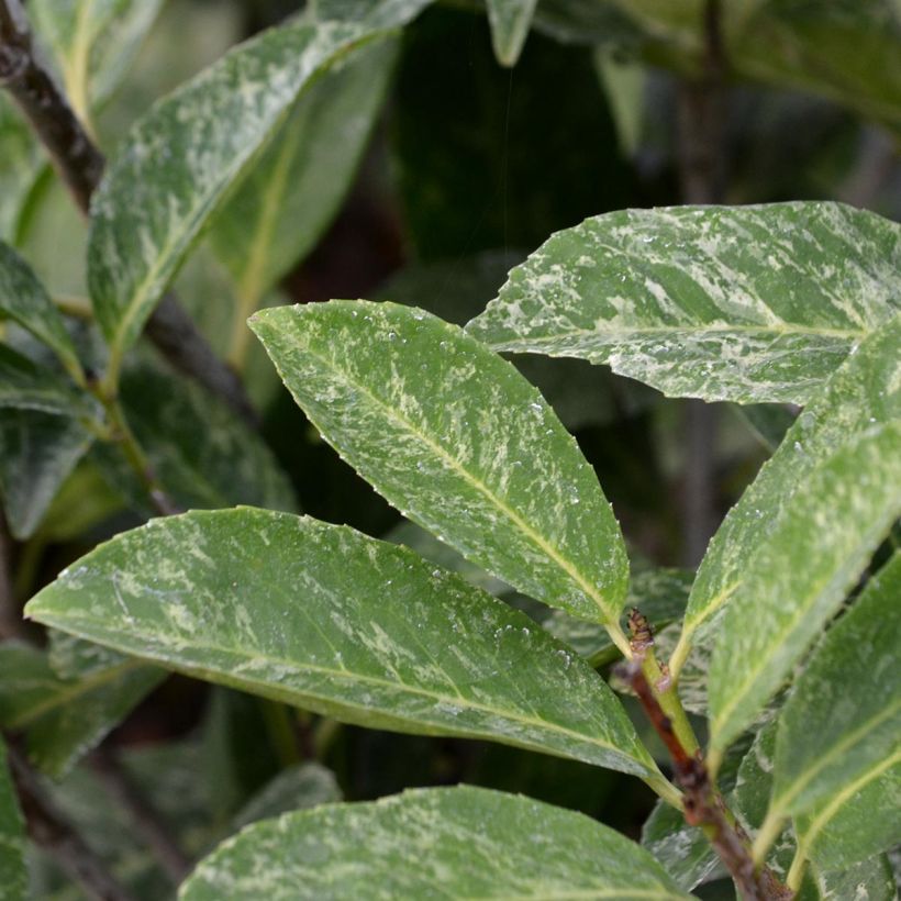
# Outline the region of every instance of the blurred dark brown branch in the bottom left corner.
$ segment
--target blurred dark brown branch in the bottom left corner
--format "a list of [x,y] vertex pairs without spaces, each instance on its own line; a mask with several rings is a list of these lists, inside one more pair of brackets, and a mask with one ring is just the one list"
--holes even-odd
[[10,770],[32,841],[48,850],[63,870],[80,883],[89,898],[96,901],[132,901],[132,896],[119,885],[57,809],[22,755],[14,746],[8,750]]

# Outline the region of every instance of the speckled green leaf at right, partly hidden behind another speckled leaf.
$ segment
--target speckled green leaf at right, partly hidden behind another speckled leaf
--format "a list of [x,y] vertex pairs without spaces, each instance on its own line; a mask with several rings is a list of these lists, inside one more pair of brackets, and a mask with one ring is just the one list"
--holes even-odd
[[861,342],[730,511],[691,589],[682,637],[670,660],[676,675],[691,644],[715,631],[718,614],[746,578],[748,560],[814,467],[874,424],[901,418],[899,345],[901,316]]

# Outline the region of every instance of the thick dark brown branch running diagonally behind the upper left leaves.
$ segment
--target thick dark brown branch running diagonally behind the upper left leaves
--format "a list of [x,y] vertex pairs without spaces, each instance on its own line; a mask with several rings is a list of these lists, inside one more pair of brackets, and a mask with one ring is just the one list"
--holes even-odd
[[[105,160],[43,65],[20,0],[0,0],[0,85],[41,138],[79,210],[87,214]],[[154,310],[146,334],[178,371],[223,398],[251,425],[259,424],[241,379],[213,353],[171,293]]]

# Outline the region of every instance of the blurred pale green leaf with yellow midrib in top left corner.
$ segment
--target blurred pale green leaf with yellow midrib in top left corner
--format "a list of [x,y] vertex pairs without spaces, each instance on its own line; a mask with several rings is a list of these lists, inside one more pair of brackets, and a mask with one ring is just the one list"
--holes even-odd
[[59,67],[76,114],[109,98],[151,30],[163,0],[33,0],[29,14]]

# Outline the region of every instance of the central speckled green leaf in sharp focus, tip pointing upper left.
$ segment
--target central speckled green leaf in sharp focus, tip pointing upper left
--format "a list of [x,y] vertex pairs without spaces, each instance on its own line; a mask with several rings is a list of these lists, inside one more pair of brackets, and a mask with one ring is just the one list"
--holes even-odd
[[620,526],[509,363],[393,303],[281,307],[251,327],[325,440],[408,519],[524,593],[619,631]]

